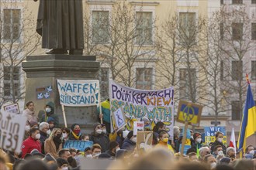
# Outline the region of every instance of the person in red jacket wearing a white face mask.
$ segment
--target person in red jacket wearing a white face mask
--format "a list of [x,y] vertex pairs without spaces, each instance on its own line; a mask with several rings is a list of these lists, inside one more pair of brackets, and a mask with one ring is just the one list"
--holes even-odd
[[31,128],[29,130],[29,138],[22,142],[22,158],[25,157],[26,154],[30,153],[33,149],[37,149],[40,153],[41,151],[41,143],[40,139],[40,131],[38,128]]

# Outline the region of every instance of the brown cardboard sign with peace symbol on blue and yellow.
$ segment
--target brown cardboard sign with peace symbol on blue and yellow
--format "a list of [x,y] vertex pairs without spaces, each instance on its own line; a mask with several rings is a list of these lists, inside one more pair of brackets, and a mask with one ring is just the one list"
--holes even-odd
[[202,106],[180,100],[178,104],[177,121],[185,123],[186,121],[195,126],[199,126],[202,114]]

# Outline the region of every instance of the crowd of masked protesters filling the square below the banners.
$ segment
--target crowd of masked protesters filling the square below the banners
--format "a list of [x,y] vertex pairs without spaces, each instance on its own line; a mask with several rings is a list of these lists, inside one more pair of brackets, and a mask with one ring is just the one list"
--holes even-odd
[[[170,138],[165,124],[157,122],[153,129],[147,117],[144,131],[154,131],[152,148],[137,150],[137,135],[125,128],[110,132],[109,100],[103,104],[103,124],[96,123],[91,134],[82,134],[79,124],[61,128],[54,103],[45,106],[45,114],[38,119],[33,112],[34,104],[29,101],[22,115],[27,118],[26,133],[20,153],[0,150],[1,170],[67,170],[82,169],[83,160],[111,160],[109,169],[216,169],[254,170],[256,167],[255,148],[248,145],[245,153],[223,145],[223,133],[216,132],[216,140],[204,145],[202,134],[190,130],[191,148],[181,154],[182,134],[174,127]],[[109,112],[109,113],[106,113]],[[106,114],[106,115],[105,115]],[[92,147],[77,150],[64,148],[67,140],[92,141]],[[243,158],[240,158],[242,155]]]

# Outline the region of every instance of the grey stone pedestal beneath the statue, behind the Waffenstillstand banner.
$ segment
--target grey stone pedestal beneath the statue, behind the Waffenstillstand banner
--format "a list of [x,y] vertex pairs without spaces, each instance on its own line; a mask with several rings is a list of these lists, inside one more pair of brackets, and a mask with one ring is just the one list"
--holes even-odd
[[[35,103],[36,113],[43,113],[45,104],[53,101],[55,113],[60,118],[60,125],[64,127],[64,119],[61,110],[60,97],[57,90],[57,79],[59,80],[95,80],[99,71],[99,62],[95,56],[79,55],[42,55],[27,56],[22,62],[22,70],[26,72],[26,97],[25,103],[32,100]],[[40,97],[45,93],[47,87],[52,87],[50,97]],[[93,107],[64,107],[67,128],[71,124],[81,124],[81,128],[89,132],[97,120],[97,108]],[[39,114],[39,117],[41,116]],[[84,132],[85,132],[84,131]]]

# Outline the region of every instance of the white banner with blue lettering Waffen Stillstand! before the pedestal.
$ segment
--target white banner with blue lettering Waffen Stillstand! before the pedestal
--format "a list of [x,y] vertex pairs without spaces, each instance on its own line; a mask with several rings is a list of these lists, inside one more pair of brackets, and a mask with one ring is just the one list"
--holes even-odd
[[64,106],[99,105],[99,80],[57,80],[57,87]]

